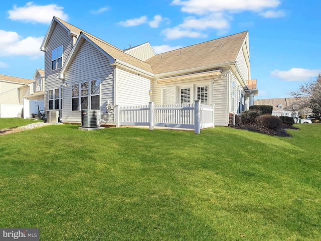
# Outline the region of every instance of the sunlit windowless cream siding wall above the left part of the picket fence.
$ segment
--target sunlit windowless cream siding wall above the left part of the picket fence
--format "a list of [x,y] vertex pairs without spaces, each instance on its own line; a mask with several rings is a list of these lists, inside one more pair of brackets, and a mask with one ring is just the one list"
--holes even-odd
[[117,100],[119,105],[148,104],[151,80],[117,69]]

